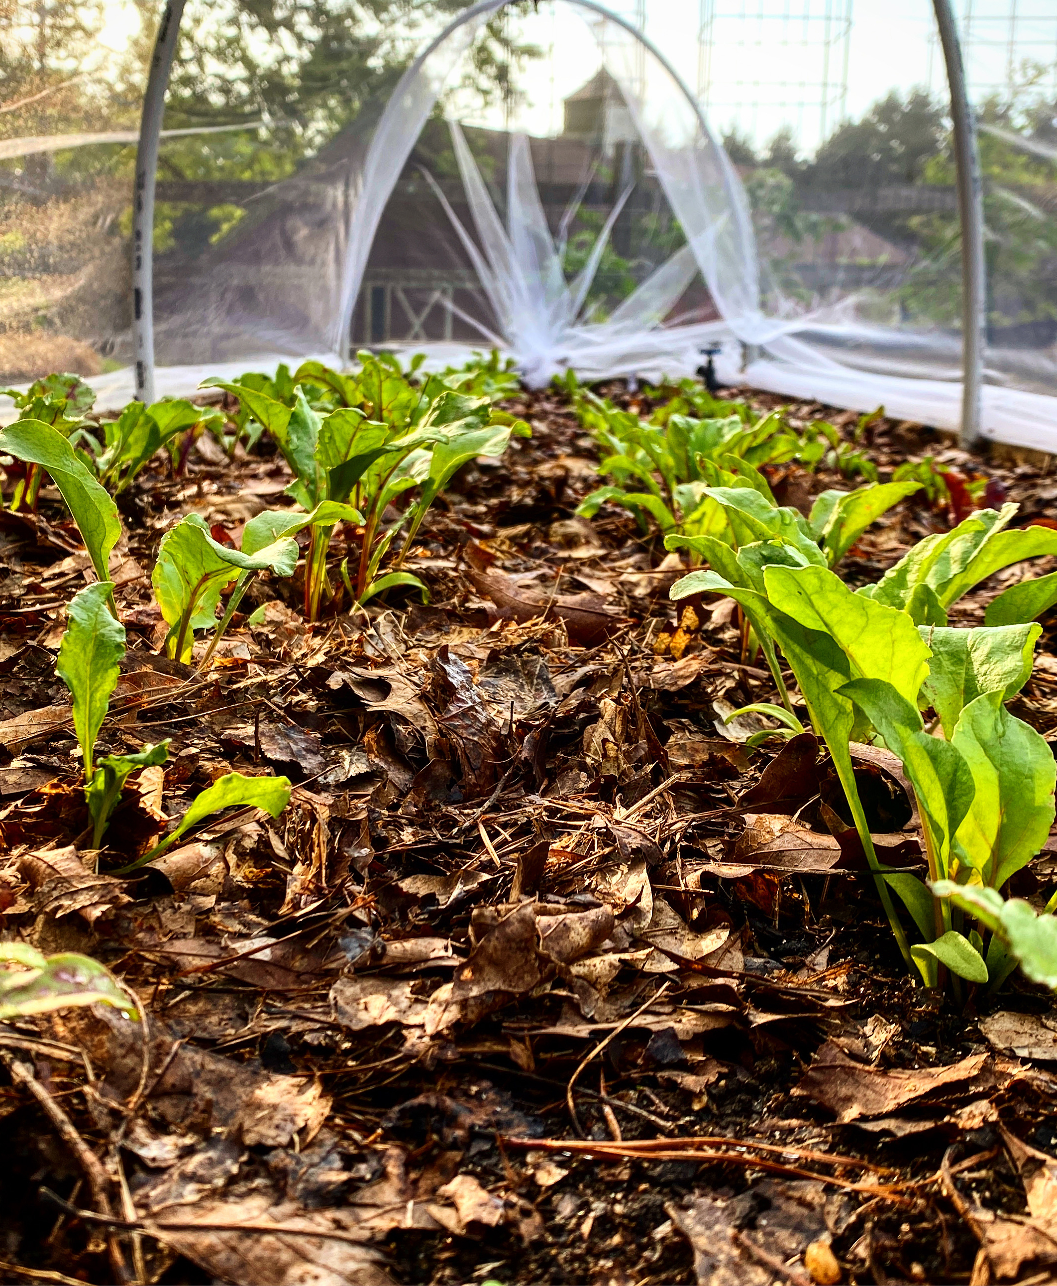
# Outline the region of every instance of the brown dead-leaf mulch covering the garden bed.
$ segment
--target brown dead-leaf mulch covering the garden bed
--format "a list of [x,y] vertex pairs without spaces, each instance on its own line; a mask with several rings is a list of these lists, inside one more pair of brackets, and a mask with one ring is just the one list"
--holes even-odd
[[[207,675],[157,655],[161,532],[193,509],[237,538],[284,466],[203,440],[186,476],[122,499],[130,652],[100,754],[172,746],[98,872],[54,676],[87,559],[48,490],[37,520],[0,513],[0,909],[144,1008],[0,1030],[0,1276],[1053,1280],[1049,995],[1016,981],[959,1013],[912,985],[824,751],[751,751],[759,720],[724,724],[773,697],[730,604],[676,617],[657,540],[575,517],[597,455],[562,396],[510,409],[534,439],[464,471],[409,559],[429,606],[309,628],[296,581],[262,583]],[[972,459],[883,419],[868,451],[882,471],[932,453],[1018,521],[1053,513],[1047,459]],[[796,505],[835,481],[772,469]],[[850,581],[961,516],[914,500]],[[1016,702],[1045,736],[1053,643],[1051,625]],[[230,769],[288,774],[288,810],[107,873]],[[887,860],[919,865],[890,760],[859,773]],[[1054,869],[1057,844],[1017,891],[1045,895]]]

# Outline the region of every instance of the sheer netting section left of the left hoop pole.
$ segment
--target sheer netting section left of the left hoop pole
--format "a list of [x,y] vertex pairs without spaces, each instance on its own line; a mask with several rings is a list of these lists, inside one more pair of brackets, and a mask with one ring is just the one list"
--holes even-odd
[[144,63],[120,0],[0,6],[0,379],[120,364]]

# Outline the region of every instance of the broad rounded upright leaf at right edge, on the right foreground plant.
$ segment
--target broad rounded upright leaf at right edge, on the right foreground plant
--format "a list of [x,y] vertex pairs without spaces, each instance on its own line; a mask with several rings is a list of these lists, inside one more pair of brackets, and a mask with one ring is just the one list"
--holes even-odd
[[1057,778],[1047,742],[1002,702],[1000,691],[976,697],[962,711],[952,738],[975,784],[957,842],[964,860],[995,889],[1045,844]]

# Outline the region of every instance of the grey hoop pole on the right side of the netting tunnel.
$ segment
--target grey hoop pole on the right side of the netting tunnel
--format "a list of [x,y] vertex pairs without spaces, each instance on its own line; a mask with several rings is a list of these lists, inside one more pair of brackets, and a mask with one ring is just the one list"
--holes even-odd
[[966,89],[962,45],[950,0],[932,0],[950,87],[954,159],[958,167],[958,221],[962,229],[962,446],[980,441],[980,399],[986,346],[986,269],[984,264],[984,180],[976,117]]

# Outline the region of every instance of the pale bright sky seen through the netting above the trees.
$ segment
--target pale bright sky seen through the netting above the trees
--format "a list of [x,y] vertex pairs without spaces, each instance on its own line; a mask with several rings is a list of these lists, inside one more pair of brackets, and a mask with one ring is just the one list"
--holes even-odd
[[[608,0],[608,5],[631,22],[644,14],[647,36],[691,91],[707,84],[705,109],[716,132],[737,126],[756,147],[788,126],[801,152],[810,154],[842,118],[860,117],[890,90],[907,94],[925,86],[945,93],[931,0]],[[1025,57],[1052,68],[1057,94],[1057,0],[954,0],[954,5],[977,95],[1004,84],[1011,63]],[[850,15],[850,22],[829,28],[823,93],[827,10]],[[131,0],[111,0],[107,12],[103,42],[121,49],[138,28],[136,8]],[[698,33],[702,14],[709,13],[714,15],[710,59],[706,55],[702,66]],[[1011,13],[1017,15],[1012,49]],[[842,30],[847,39],[841,39]],[[527,66],[527,102],[510,123],[531,134],[556,134],[562,99],[599,66],[597,45],[565,0],[540,0],[539,15],[523,22],[523,36],[545,57]],[[658,84],[647,73],[647,96],[658,91]],[[505,121],[500,109],[492,109],[473,123],[503,127]]]

